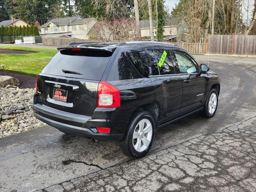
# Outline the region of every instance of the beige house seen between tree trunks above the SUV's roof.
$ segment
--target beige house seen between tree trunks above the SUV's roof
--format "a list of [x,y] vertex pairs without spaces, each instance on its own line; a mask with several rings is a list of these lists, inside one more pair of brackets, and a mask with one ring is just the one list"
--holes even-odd
[[[154,38],[156,39],[156,20],[153,20]],[[149,20],[140,20],[140,33],[142,39],[150,39]],[[177,37],[176,18],[166,18],[164,26],[164,40],[174,40]]]

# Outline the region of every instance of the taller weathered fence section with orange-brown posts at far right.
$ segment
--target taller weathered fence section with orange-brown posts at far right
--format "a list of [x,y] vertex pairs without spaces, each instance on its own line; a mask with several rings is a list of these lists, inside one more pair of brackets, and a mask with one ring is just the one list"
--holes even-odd
[[256,35],[209,35],[209,54],[256,55]]

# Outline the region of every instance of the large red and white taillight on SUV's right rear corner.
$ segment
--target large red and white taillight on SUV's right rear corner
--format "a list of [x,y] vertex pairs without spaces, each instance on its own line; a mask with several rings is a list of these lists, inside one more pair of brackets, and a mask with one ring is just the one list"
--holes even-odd
[[99,82],[97,107],[120,107],[119,90],[107,82]]

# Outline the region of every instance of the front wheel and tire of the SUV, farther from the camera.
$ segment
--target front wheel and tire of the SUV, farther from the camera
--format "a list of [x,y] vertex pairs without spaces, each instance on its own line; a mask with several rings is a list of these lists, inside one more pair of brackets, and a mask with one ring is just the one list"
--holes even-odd
[[[216,96],[216,99],[213,101],[214,96]],[[210,106],[209,106],[209,103],[210,103]],[[214,109],[214,106],[215,106],[215,109]],[[204,109],[201,112],[202,116],[206,118],[212,118],[216,113],[217,107],[218,107],[218,92],[216,91],[216,89],[212,88],[204,103]]]

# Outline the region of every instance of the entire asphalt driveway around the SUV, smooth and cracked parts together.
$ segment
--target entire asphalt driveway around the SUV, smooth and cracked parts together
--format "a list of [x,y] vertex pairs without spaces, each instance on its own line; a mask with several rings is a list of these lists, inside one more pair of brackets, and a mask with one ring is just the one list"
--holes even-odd
[[140,160],[115,142],[50,126],[1,138],[0,191],[256,191],[255,65],[255,58],[210,56],[221,78],[215,116],[196,113],[159,129]]

